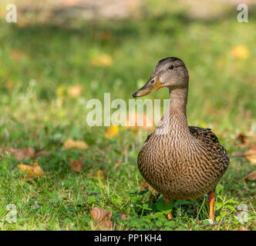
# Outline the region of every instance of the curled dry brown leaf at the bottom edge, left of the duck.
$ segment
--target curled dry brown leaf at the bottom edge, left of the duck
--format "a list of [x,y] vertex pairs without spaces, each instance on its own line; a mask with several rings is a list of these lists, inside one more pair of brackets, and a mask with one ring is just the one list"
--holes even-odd
[[112,231],[113,230],[113,224],[111,221],[112,212],[108,211],[104,208],[93,208],[90,211],[90,215],[92,220],[95,222],[95,228],[96,230],[100,231]]

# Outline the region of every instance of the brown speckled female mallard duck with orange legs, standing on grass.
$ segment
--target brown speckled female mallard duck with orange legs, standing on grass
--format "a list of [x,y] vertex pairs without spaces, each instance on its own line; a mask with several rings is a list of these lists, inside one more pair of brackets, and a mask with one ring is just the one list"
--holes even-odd
[[136,98],[162,87],[170,91],[169,108],[147,137],[138,155],[138,168],[165,201],[208,194],[210,218],[214,220],[214,190],[227,170],[229,158],[211,129],[187,125],[188,81],[184,62],[164,58],[147,84],[133,94]]

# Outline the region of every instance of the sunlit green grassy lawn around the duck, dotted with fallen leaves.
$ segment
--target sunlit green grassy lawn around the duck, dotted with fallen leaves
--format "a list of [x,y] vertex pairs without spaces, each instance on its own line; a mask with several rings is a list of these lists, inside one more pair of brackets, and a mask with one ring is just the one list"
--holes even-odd
[[[27,161],[0,158],[1,230],[93,230],[93,207],[112,211],[115,230],[237,230],[239,204],[248,206],[243,226],[255,230],[256,185],[242,179],[255,166],[245,158],[232,158],[217,185],[216,225],[204,221],[206,197],[173,201],[173,219],[167,221],[163,198],[142,188],[136,167],[150,131],[120,127],[116,136],[106,138],[107,127],[86,124],[89,99],[103,100],[110,92],[111,100],[128,102],[161,58],[177,56],[190,71],[189,124],[212,128],[229,155],[244,151],[248,146],[241,148],[237,135],[256,135],[254,19],[238,23],[236,12],[212,22],[145,15],[88,21],[79,28],[1,20],[0,28],[0,147],[51,153]],[[237,45],[248,55],[236,57]],[[104,54],[106,64],[97,65]],[[72,85],[82,86],[82,93],[70,96]],[[147,96],[167,97],[165,88]],[[85,141],[88,148],[64,149],[69,138]],[[85,167],[73,171],[70,161],[79,158]],[[17,165],[35,161],[46,175],[28,181]],[[99,170],[104,177],[95,175]],[[8,204],[17,208],[15,223],[6,221]]]

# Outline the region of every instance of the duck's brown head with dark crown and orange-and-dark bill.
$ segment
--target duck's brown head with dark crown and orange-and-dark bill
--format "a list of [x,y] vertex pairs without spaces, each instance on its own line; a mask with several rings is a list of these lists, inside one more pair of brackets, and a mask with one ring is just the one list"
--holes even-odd
[[149,81],[133,94],[133,98],[148,95],[162,87],[170,88],[170,90],[186,88],[188,86],[188,78],[187,68],[180,58],[164,58],[157,62]]

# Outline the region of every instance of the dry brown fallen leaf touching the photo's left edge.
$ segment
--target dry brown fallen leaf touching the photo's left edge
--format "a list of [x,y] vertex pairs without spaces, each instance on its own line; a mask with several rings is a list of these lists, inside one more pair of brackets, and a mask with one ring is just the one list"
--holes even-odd
[[18,161],[29,161],[34,157],[35,151],[33,148],[0,148],[0,155],[5,152],[5,155],[10,156],[13,155],[14,158]]

